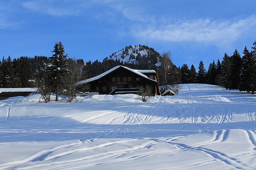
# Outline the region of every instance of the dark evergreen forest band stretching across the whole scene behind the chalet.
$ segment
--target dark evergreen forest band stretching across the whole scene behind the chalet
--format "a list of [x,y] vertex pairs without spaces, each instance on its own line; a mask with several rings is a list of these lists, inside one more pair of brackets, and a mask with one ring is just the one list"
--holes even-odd
[[[130,55],[129,50],[132,51]],[[140,54],[142,50],[146,51],[143,55]],[[55,43],[52,53],[51,57],[3,57],[0,60],[0,88],[36,87],[36,79],[46,79],[45,75],[48,75],[49,79],[54,79],[51,82],[54,89],[59,89],[61,75],[68,74],[67,63],[72,61],[82,65],[80,79],[91,78],[122,65],[138,70],[155,70],[159,85],[165,85],[166,88],[174,84],[204,83],[252,94],[256,91],[256,41],[252,44],[252,51],[245,46],[242,55],[236,49],[231,56],[225,53],[221,61],[213,60],[208,69],[201,60],[198,71],[193,64],[189,67],[184,63],[177,67],[172,63],[170,51],[159,54],[154,48],[145,45],[126,46],[119,54],[120,58],[115,59],[116,53],[113,53],[102,62],[96,60],[84,63],[83,59],[68,58],[61,42]],[[121,61],[127,55],[129,62]],[[158,61],[161,64],[156,64]]]

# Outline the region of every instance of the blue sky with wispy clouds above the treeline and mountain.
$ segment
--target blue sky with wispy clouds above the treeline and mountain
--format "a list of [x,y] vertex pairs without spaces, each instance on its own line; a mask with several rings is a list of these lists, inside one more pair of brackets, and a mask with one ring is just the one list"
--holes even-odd
[[256,41],[253,0],[1,0],[0,55],[52,56],[61,41],[69,57],[102,61],[125,46],[172,52],[177,66],[212,60]]

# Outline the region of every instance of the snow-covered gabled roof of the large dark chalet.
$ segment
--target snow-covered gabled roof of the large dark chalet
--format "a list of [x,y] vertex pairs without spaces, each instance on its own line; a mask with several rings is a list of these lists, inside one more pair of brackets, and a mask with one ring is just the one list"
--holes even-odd
[[134,70],[134,69],[130,69],[130,68],[128,68],[128,67],[124,67],[124,66],[118,65],[118,66],[116,66],[116,67],[114,67],[114,68],[112,68],[112,69],[110,69],[110,70],[108,70],[108,71],[106,71],[106,72],[104,72],[104,73],[98,75],[98,76],[95,76],[95,77],[92,77],[92,78],[88,78],[88,79],[79,81],[77,84],[84,84],[84,83],[89,83],[89,82],[98,80],[99,78],[102,78],[103,76],[106,76],[106,75],[109,74],[110,72],[112,72],[112,71],[114,71],[114,70],[116,70],[116,69],[118,69],[118,68],[120,68],[120,67],[122,67],[122,68],[124,68],[124,69],[126,69],[126,70],[129,70],[129,71],[132,71],[133,73],[135,73],[135,74],[137,74],[137,75],[139,75],[139,76],[141,76],[141,77],[143,77],[143,78],[146,78],[146,79],[149,79],[149,80],[151,80],[151,81],[157,82],[156,80],[153,80],[153,79],[151,79],[151,78],[148,78],[147,76],[145,76],[144,74],[142,74],[142,73],[156,73],[155,70]]

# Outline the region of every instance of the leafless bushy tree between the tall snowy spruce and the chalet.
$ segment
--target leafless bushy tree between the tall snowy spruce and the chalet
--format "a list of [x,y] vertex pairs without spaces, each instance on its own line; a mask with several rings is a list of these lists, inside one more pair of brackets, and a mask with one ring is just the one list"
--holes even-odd
[[87,85],[78,85],[77,82],[85,79],[82,76],[82,68],[84,63],[78,62],[76,59],[69,58],[68,63],[68,72],[65,75],[60,77],[61,84],[63,89],[68,93],[68,102],[74,100],[76,93],[81,92]]

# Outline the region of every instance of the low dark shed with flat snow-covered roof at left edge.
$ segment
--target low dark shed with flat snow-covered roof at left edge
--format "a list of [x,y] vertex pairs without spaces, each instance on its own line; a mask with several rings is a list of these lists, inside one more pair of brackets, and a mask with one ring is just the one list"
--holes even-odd
[[28,96],[36,92],[36,88],[0,88],[0,100],[8,99],[9,97]]

